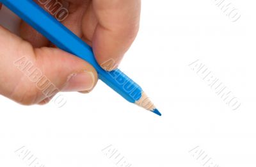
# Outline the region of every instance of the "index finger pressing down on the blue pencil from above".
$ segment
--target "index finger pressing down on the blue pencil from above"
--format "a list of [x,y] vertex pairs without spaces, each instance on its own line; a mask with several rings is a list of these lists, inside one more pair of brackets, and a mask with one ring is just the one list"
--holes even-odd
[[92,46],[100,65],[109,60],[114,60],[113,67],[120,63],[138,33],[140,6],[140,0],[93,0],[98,24]]

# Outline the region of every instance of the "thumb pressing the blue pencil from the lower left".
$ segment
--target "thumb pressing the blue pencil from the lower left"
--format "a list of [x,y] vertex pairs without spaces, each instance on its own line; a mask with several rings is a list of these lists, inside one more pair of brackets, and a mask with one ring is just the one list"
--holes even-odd
[[0,94],[21,104],[49,101],[59,91],[90,91],[97,72],[60,49],[33,49],[0,26]]

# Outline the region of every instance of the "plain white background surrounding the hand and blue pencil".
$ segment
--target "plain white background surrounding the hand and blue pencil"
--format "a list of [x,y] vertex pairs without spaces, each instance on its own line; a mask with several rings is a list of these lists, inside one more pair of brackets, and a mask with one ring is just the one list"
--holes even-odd
[[[101,82],[88,95],[62,93],[67,104],[60,108],[20,106],[0,96],[0,166],[28,166],[15,153],[22,146],[45,167],[118,166],[102,152],[108,145],[132,166],[203,166],[189,152],[195,147],[219,166],[255,166],[256,3],[227,2],[241,13],[236,22],[212,0],[143,1],[138,38],[120,68],[143,87],[161,117]],[[0,20],[10,27],[6,11]],[[239,109],[188,66],[195,60],[239,98]]]

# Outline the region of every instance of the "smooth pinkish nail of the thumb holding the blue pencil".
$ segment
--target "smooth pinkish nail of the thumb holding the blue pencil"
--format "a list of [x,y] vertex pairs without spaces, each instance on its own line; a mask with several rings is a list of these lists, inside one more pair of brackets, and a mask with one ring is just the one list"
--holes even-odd
[[90,91],[95,83],[92,72],[78,72],[68,77],[67,84],[63,91]]

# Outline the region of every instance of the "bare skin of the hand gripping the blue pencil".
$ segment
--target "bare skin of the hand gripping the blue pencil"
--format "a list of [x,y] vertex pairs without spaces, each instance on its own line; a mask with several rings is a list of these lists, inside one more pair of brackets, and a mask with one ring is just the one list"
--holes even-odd
[[[138,33],[140,0],[67,0],[60,3],[67,6],[69,12],[62,23],[92,46],[99,65],[106,70],[116,68]],[[86,93],[97,83],[97,72],[90,64],[54,47],[23,21],[20,22],[20,36],[0,26],[0,51],[0,94],[20,104],[45,104],[57,93],[45,96],[28,75],[15,67],[13,62],[20,58],[30,61],[61,91]],[[109,60],[115,64],[111,68],[104,67]]]

